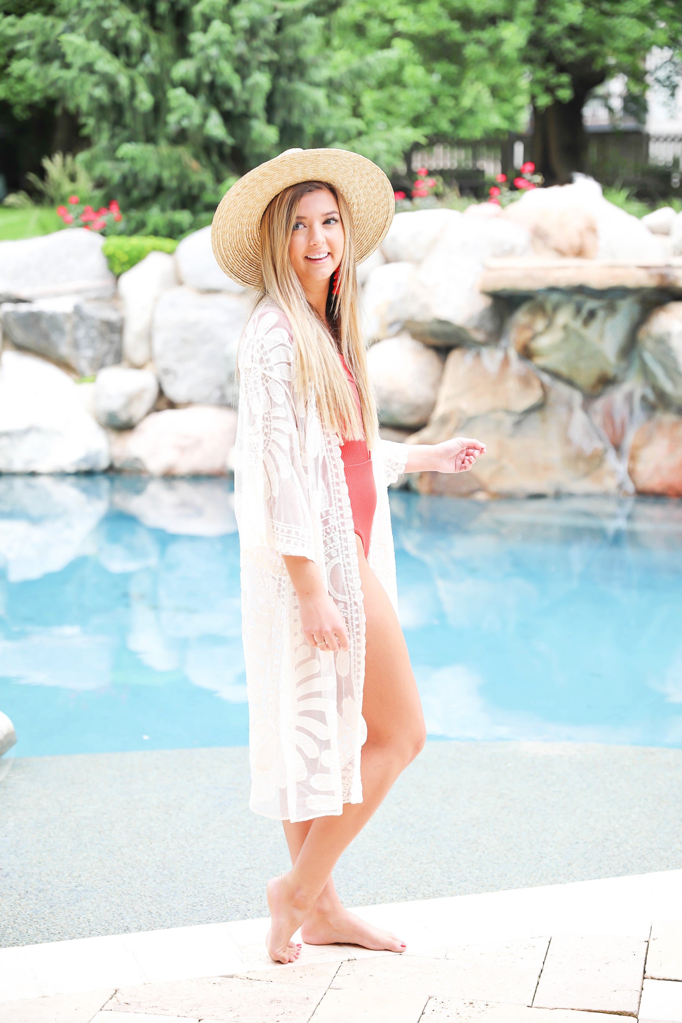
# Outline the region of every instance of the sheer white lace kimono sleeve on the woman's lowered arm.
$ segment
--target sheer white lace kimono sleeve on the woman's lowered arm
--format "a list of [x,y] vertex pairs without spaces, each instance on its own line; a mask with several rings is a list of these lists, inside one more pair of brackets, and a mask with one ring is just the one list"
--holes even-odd
[[281,320],[281,314],[261,314],[240,353],[235,511],[242,548],[267,547],[314,561],[293,347]]

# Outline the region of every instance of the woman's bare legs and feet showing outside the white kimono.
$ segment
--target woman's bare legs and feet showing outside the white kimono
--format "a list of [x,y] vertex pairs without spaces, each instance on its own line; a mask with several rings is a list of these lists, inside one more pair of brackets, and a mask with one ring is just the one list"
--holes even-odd
[[[305,937],[316,943],[346,940],[396,951],[401,942],[347,914],[333,889],[331,872],[344,849],[380,805],[402,770],[423,747],[425,728],[405,639],[393,606],[365,560],[358,540],[360,578],[366,617],[365,683],[362,712],[367,742],[362,748],[362,803],[347,803],[340,816],[287,824],[287,841],[295,860],[291,871],[268,884],[272,927],[268,951],[287,962],[288,942],[304,925]],[[307,831],[306,831],[307,829]],[[295,848],[300,851],[295,854]],[[322,899],[319,906],[318,900]],[[343,916],[345,915],[345,916]],[[343,918],[343,919],[342,919]],[[373,934],[370,934],[372,931]],[[355,935],[355,936],[353,936]],[[383,943],[376,942],[383,940]]]

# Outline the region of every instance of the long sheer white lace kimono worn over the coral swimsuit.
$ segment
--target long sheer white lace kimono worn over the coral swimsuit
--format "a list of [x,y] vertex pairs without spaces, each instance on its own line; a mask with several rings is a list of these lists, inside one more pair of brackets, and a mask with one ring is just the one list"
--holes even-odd
[[[360,749],[365,615],[338,439],[306,408],[292,380],[293,340],[279,307],[263,304],[239,353],[234,490],[248,686],[251,806],[284,820],[339,814],[362,802]],[[387,485],[405,470],[404,444],[372,451],[376,513],[369,564],[397,605]],[[283,554],[320,568],[351,649],[309,647]]]

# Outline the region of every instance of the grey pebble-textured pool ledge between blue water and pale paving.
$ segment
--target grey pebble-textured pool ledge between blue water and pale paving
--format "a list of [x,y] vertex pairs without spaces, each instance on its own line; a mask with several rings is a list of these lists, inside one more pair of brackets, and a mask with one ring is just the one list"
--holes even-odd
[[[0,946],[266,916],[288,860],[247,803],[240,747],[15,759]],[[334,878],[369,905],[679,870],[680,806],[682,750],[429,742]]]

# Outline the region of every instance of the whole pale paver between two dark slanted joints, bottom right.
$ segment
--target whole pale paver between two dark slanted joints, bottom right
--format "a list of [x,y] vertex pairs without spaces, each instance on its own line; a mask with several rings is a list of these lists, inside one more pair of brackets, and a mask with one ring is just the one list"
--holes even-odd
[[636,1016],[645,954],[636,938],[552,938],[533,1005]]

